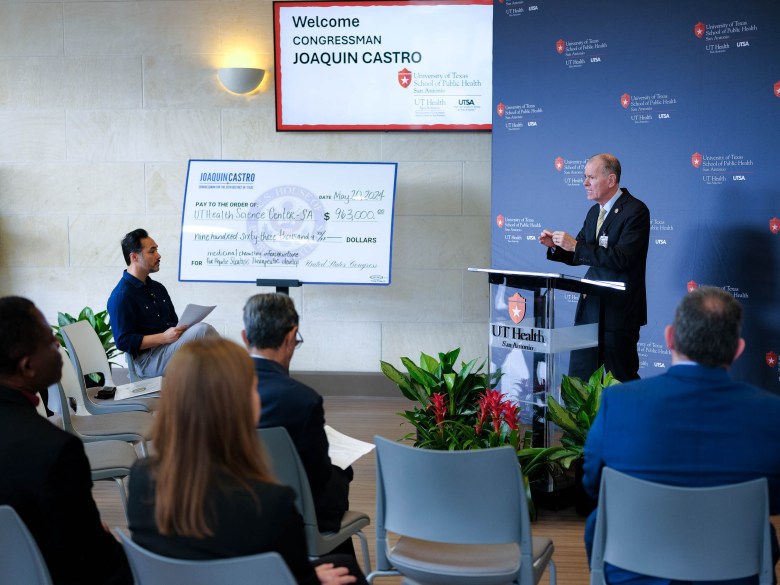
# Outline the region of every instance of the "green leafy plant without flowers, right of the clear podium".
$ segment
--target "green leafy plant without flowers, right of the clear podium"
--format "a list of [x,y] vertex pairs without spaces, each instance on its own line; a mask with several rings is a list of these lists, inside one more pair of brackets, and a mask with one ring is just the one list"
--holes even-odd
[[565,469],[574,465],[575,507],[581,514],[587,514],[595,503],[582,490],[582,462],[585,440],[601,406],[604,388],[620,384],[611,372],[604,373],[602,365],[587,381],[574,376],[561,378],[561,400],[547,397],[547,416],[561,428],[561,451],[556,453],[557,462]]

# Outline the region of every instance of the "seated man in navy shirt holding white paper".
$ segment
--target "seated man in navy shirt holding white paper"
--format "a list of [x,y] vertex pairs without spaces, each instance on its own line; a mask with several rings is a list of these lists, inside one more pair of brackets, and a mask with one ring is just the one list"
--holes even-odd
[[160,270],[161,256],[157,242],[146,230],[136,229],[125,235],[122,254],[127,270],[108,299],[114,342],[133,356],[140,377],[161,376],[179,347],[218,333],[211,325],[199,322],[205,317],[203,313],[192,323],[179,322],[168,291],[149,276]]

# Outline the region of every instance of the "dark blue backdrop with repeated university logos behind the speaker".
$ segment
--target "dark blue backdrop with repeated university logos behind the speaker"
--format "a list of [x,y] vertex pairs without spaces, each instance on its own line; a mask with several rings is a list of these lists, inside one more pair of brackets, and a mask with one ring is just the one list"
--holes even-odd
[[778,2],[496,0],[492,267],[584,275],[537,236],[577,234],[585,162],[612,153],[651,214],[640,376],[669,367],[664,326],[709,285],[745,308],[734,375],[780,392],[778,130]]

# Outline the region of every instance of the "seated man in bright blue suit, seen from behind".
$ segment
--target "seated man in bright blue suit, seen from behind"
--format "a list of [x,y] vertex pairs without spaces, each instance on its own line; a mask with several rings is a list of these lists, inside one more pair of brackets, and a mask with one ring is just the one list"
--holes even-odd
[[[742,307],[727,292],[702,287],[682,300],[665,330],[672,367],[602,396],[585,444],[583,485],[590,495],[598,497],[605,466],[689,487],[766,477],[770,513],[780,513],[780,397],[729,376],[745,348],[741,328]],[[593,512],[585,527],[588,558],[595,524]],[[772,557],[776,563],[774,530]],[[605,577],[612,584],[668,583],[608,564]]]

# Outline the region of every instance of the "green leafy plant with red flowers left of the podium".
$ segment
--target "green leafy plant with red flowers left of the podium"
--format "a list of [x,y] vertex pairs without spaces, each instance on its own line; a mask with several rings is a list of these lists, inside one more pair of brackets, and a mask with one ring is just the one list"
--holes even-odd
[[402,357],[407,374],[388,362],[380,362],[382,373],[414,402],[410,410],[398,413],[409,421],[415,431],[405,440],[415,447],[439,450],[466,450],[512,446],[517,452],[523,479],[529,496],[529,510],[535,517],[530,498],[530,478],[556,465],[556,453],[561,446],[532,448],[531,432],[519,423],[519,408],[492,387],[500,372],[483,372],[485,362],[476,359],[456,362],[460,349],[438,354],[439,359],[420,354],[420,364]]

